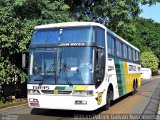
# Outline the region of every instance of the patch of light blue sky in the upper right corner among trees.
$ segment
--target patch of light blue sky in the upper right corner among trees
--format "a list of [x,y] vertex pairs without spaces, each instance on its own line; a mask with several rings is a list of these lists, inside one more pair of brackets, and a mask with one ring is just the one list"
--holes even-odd
[[148,6],[143,5],[141,6],[141,9],[143,12],[140,14],[140,17],[147,18],[147,19],[153,19],[155,22],[160,23],[160,3],[157,3],[156,5]]

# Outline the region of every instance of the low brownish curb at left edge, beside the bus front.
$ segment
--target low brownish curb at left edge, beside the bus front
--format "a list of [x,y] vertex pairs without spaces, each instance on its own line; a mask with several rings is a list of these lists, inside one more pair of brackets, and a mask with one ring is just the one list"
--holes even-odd
[[4,104],[4,105],[0,106],[0,110],[5,109],[5,108],[9,108],[9,107],[16,107],[18,105],[23,105],[23,104],[27,104],[27,100],[22,100],[22,101],[15,102],[15,103],[8,103],[6,105]]

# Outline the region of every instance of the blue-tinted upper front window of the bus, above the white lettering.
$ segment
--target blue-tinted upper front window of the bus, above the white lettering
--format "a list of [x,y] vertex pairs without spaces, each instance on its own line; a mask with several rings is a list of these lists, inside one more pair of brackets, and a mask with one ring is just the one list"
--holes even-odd
[[67,42],[94,42],[92,27],[71,27],[35,30],[33,44],[51,44]]

